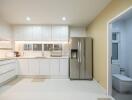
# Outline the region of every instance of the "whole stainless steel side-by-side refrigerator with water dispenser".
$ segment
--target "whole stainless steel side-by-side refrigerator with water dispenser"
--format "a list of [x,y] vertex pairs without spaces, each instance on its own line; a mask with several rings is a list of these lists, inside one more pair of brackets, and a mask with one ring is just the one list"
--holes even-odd
[[92,38],[71,38],[70,79],[93,79]]

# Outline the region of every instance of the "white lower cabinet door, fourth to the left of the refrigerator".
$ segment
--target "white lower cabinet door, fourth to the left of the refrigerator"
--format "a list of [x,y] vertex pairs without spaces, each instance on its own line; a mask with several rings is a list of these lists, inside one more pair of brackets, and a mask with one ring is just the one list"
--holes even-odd
[[39,75],[39,59],[28,59],[29,62],[29,74]]

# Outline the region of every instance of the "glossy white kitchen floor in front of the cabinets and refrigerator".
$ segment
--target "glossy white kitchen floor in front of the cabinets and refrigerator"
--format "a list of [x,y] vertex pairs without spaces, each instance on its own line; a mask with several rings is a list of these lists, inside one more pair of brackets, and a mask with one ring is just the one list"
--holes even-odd
[[106,94],[95,81],[16,79],[0,87],[0,100],[97,100],[102,97],[106,98]]

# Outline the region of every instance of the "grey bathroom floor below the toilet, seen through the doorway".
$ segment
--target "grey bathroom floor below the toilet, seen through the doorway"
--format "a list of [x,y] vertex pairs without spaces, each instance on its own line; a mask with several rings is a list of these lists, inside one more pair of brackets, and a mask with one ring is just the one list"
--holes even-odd
[[113,89],[112,95],[116,100],[132,100],[132,93],[119,93]]

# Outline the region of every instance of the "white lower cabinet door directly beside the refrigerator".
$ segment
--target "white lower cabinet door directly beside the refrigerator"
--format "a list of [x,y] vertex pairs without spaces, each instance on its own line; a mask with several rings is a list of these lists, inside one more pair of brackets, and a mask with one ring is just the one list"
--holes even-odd
[[68,59],[60,59],[60,75],[68,76],[69,72],[69,61]]

